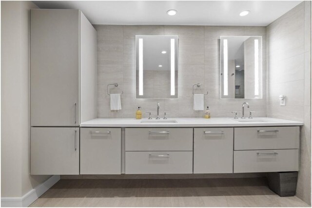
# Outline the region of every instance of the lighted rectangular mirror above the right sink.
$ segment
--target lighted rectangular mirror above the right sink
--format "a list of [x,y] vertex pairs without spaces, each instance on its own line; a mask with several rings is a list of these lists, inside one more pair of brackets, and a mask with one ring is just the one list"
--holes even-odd
[[262,98],[262,37],[221,36],[221,98]]

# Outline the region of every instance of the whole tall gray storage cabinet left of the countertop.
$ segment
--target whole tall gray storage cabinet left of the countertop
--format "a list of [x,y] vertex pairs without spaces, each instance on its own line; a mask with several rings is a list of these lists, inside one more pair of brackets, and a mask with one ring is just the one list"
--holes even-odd
[[79,174],[78,127],[97,117],[96,75],[97,31],[80,10],[30,11],[31,174]]

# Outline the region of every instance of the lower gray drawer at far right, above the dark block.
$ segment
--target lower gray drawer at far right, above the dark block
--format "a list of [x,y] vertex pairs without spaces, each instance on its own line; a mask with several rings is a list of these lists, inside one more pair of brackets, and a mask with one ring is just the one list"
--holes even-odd
[[299,150],[234,151],[234,173],[298,170]]

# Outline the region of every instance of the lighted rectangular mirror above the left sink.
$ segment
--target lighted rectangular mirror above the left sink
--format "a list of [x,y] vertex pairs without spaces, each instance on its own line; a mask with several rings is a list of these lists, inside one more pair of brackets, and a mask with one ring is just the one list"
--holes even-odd
[[177,98],[178,36],[136,36],[137,98]]

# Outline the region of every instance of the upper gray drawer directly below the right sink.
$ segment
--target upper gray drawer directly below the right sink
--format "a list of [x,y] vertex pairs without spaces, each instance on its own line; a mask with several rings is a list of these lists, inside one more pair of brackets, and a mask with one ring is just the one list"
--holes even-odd
[[234,129],[234,150],[298,149],[299,127]]

